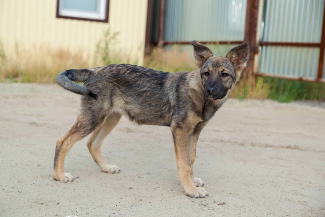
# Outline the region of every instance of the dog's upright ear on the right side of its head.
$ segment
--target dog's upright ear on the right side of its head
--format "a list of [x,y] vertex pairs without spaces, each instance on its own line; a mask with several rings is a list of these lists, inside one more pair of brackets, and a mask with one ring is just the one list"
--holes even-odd
[[227,54],[226,57],[232,62],[237,78],[239,78],[241,71],[246,67],[250,54],[248,41],[232,48]]

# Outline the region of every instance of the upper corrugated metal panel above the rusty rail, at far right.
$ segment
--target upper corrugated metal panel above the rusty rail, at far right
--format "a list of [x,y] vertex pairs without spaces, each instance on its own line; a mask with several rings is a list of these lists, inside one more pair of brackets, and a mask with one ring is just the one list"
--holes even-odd
[[262,41],[319,43],[324,0],[266,0]]

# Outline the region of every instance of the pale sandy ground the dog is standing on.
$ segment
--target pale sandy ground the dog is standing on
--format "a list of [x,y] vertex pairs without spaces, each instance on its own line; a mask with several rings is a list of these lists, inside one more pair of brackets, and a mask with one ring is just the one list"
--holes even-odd
[[[0,84],[0,216],[325,216],[325,105],[230,99],[200,135],[194,174],[209,196],[184,195],[168,127],[126,118],[103,143],[107,174],[76,143],[52,180],[55,143],[80,97],[57,85]],[[224,203],[224,205],[219,205]]]

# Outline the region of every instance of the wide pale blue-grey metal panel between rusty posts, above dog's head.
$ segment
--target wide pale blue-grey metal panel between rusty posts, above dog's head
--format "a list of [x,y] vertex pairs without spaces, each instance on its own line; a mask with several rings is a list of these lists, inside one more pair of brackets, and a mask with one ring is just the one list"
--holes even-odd
[[244,40],[247,0],[167,0],[165,41]]

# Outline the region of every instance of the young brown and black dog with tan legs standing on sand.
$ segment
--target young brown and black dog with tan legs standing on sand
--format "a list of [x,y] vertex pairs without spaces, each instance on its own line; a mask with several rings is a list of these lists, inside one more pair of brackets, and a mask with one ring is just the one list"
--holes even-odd
[[[192,41],[198,70],[166,73],[129,64],[110,64],[90,69],[71,69],[56,80],[81,97],[81,112],[72,128],[56,143],[54,180],[74,180],[64,172],[64,159],[72,145],[91,132],[87,147],[103,172],[121,170],[101,154],[104,138],[122,115],[139,125],[168,126],[172,131],[177,174],[185,194],[206,197],[200,178],[193,174],[196,145],[203,127],[226,102],[250,57],[248,42],[215,57],[211,50]],[[84,82],[83,86],[72,81]]]

